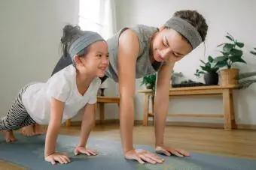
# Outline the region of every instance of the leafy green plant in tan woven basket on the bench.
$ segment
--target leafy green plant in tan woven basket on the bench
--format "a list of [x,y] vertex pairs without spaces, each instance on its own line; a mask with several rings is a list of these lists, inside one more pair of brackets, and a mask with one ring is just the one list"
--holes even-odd
[[221,85],[237,85],[238,81],[236,76],[239,75],[239,69],[233,67],[234,63],[244,63],[246,62],[242,59],[242,48],[244,43],[236,40],[231,34],[227,33],[225,36],[229,43],[221,43],[219,46],[222,46],[221,56],[214,58],[215,67],[224,69],[220,70],[221,74]]

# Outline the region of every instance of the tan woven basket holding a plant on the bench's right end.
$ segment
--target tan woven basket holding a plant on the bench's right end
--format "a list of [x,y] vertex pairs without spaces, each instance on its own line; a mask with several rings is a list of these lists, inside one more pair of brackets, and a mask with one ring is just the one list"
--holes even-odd
[[236,76],[239,74],[239,69],[231,68],[221,70],[221,85],[237,85],[238,80]]

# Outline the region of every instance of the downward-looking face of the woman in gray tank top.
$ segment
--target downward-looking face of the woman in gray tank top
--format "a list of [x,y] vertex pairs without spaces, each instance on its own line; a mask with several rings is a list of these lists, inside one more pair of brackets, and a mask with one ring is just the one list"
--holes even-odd
[[154,37],[151,49],[155,61],[177,62],[191,52],[192,46],[177,31],[161,28]]

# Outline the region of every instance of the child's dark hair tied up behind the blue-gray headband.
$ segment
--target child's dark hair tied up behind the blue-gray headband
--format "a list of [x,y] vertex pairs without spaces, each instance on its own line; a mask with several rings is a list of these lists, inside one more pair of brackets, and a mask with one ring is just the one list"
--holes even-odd
[[[62,43],[62,55],[63,57],[67,57],[69,56],[70,46],[72,45],[72,43],[75,42],[75,40],[78,40],[78,38],[84,34],[84,31],[82,31],[78,25],[75,25],[75,26],[66,25],[62,30],[63,30],[63,35],[62,35],[62,38],[60,39]],[[89,52],[89,48],[90,46],[87,46],[87,48],[78,52],[79,57],[87,55],[87,53]]]

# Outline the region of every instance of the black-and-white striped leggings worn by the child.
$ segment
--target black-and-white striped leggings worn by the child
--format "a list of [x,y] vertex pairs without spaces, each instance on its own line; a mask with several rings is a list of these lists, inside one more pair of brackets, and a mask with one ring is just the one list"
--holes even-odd
[[29,85],[25,85],[18,93],[14,103],[8,111],[8,114],[0,119],[0,130],[18,130],[29,124],[35,124],[35,121],[26,112],[21,97]]

